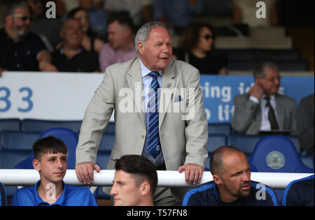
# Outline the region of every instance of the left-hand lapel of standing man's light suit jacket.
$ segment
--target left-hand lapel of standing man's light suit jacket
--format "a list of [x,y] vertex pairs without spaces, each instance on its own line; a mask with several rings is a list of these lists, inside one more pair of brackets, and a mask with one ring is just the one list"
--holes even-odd
[[144,104],[144,98],[142,97],[143,85],[139,57],[135,59],[134,64],[132,64],[132,67],[127,74],[127,83],[130,90],[132,91],[134,110],[139,112],[141,122],[144,124],[144,127],[146,127],[146,116],[144,115],[144,111],[141,110],[141,105]]

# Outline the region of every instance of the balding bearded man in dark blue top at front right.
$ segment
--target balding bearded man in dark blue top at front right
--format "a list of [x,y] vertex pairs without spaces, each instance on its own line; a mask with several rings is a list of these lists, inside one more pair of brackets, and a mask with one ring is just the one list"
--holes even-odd
[[276,206],[276,195],[264,184],[251,181],[251,170],[243,152],[223,146],[211,154],[214,181],[191,189],[183,199],[186,206]]

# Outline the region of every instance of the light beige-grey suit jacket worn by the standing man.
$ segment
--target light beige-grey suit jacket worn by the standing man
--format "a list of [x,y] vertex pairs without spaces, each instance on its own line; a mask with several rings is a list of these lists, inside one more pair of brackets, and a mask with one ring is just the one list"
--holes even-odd
[[[115,160],[123,155],[141,155],[146,138],[145,112],[139,104],[143,101],[142,87],[139,57],[106,68],[104,80],[85,112],[76,148],[76,163],[95,163],[99,142],[113,110],[115,143],[107,169],[113,170]],[[199,71],[183,61],[173,60],[162,71],[161,88],[167,91],[165,96],[160,97],[159,110],[160,142],[167,170],[177,170],[185,163],[205,166],[208,121]],[[182,88],[193,91],[190,98],[179,94]],[[161,105],[164,108],[162,111]],[[185,107],[186,113],[189,112],[186,117],[177,111]],[[173,196],[176,195],[173,193]]]

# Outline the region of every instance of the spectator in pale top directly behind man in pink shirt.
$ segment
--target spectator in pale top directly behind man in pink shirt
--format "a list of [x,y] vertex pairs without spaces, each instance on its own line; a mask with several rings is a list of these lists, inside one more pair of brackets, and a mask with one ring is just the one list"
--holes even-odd
[[136,29],[153,20],[152,0],[105,0],[104,9],[110,13],[126,11],[132,18]]

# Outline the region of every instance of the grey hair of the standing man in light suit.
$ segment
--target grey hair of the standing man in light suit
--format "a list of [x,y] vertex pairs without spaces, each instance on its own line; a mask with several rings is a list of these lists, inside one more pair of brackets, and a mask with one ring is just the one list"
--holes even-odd
[[171,32],[169,31],[168,27],[163,22],[148,22],[140,27],[140,29],[137,31],[136,37],[134,38],[134,43],[136,44],[136,50],[138,50],[138,42],[143,43],[146,45],[146,41],[148,40],[148,36],[150,35],[150,32],[155,27],[162,27],[166,29],[169,32],[169,35],[171,35]]

